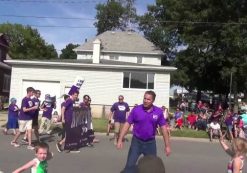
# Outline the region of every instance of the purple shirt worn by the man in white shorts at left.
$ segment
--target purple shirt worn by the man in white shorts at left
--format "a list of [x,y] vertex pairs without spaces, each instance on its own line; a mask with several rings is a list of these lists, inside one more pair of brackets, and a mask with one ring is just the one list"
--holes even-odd
[[20,111],[20,116],[19,120],[32,120],[32,117],[34,115],[34,111],[28,111],[28,112],[23,112],[23,108],[31,108],[33,107],[33,101],[31,98],[24,97],[21,102],[21,111]]

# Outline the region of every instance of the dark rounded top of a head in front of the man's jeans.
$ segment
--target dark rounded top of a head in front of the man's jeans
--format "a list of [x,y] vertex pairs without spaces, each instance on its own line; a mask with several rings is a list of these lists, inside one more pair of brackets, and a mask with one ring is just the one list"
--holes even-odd
[[165,173],[165,166],[161,158],[154,155],[142,157],[137,164],[137,173]]

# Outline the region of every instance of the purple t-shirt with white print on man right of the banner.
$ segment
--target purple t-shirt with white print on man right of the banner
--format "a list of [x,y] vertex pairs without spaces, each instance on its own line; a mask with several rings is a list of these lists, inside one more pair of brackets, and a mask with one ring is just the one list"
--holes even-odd
[[111,107],[111,112],[113,112],[114,122],[125,123],[126,113],[130,111],[129,105],[125,102],[116,102]]

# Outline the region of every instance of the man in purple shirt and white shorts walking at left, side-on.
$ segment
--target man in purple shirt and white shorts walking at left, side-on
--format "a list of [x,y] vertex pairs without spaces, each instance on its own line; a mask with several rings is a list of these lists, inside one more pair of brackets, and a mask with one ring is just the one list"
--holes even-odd
[[35,110],[38,109],[38,106],[33,104],[31,97],[33,96],[34,89],[32,87],[27,88],[27,96],[22,99],[21,102],[21,110],[19,115],[19,131],[15,135],[13,141],[11,141],[11,145],[15,147],[19,147],[20,145],[17,143],[18,138],[21,134],[24,134],[27,131],[28,136],[28,146],[27,149],[33,150],[32,146],[32,118]]

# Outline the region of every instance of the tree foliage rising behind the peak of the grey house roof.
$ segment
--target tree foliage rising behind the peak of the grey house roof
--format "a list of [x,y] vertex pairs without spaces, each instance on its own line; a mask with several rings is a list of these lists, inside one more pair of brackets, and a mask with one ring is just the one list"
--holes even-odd
[[96,5],[97,34],[108,30],[128,30],[136,21],[135,0],[110,0]]

